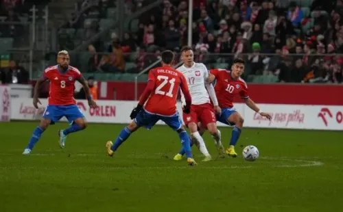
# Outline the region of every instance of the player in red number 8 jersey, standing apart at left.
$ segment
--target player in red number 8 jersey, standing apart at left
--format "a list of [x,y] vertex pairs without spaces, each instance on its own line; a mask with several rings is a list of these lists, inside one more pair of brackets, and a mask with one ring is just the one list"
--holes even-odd
[[43,82],[49,80],[49,98],[48,105],[43,113],[43,118],[40,124],[29,140],[29,144],[25,148],[23,155],[29,155],[36,142],[38,142],[40,136],[49,127],[49,124],[54,124],[60,118],[65,116],[71,125],[64,130],[58,131],[60,137],[60,147],[64,148],[64,144],[67,139],[67,135],[75,133],[86,128],[86,120],[84,115],[76,105],[75,99],[73,98],[75,90],[75,81],[79,81],[86,92],[88,105],[90,107],[96,107],[95,101],[93,101],[91,93],[89,92],[88,85],[84,77],[78,68],[69,66],[69,54],[67,51],[60,51],[57,55],[58,65],[50,66],[43,72],[43,76],[37,80],[34,86],[34,107],[38,109],[38,103],[41,105],[38,99],[38,88]]

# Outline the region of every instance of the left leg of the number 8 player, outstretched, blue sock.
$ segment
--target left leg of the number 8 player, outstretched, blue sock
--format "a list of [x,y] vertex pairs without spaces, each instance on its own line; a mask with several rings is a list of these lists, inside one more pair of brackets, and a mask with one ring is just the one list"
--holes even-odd
[[45,108],[43,113],[43,118],[40,121],[40,124],[34,129],[31,138],[29,139],[29,144],[25,148],[23,155],[29,155],[31,153],[32,148],[40,139],[40,136],[44,133],[44,131],[49,127],[49,124],[54,124],[54,122],[60,120],[62,118],[62,111],[60,111],[56,105],[48,105]]

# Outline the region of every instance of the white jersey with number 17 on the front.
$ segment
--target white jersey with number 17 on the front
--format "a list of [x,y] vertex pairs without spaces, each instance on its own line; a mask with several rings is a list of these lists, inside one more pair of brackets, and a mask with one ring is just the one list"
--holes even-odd
[[[193,63],[193,66],[187,68],[185,64],[178,67],[177,70],[182,72],[187,79],[189,92],[191,93],[192,105],[202,105],[210,103],[209,93],[206,90],[205,82],[209,77],[209,70],[204,64]],[[185,105],[185,98],[181,92],[182,105]]]

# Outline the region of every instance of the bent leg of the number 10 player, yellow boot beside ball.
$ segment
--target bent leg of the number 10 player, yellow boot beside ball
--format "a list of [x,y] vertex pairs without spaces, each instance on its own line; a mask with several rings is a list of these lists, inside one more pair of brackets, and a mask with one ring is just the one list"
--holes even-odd
[[226,149],[226,154],[230,155],[232,157],[237,157],[237,153],[235,152],[235,145],[237,144],[237,141],[239,139],[239,135],[241,135],[241,129],[243,127],[244,119],[235,109],[230,108],[226,109],[226,124],[233,127],[233,131],[231,133],[231,139],[230,144],[228,148]]

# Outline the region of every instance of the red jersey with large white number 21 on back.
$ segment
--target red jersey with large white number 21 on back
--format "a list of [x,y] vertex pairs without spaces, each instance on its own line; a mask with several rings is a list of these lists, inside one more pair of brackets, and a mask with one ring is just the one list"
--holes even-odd
[[189,93],[185,76],[170,66],[162,66],[150,70],[148,81],[154,81],[155,86],[144,109],[163,116],[176,114],[178,90]]

